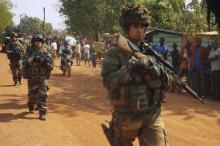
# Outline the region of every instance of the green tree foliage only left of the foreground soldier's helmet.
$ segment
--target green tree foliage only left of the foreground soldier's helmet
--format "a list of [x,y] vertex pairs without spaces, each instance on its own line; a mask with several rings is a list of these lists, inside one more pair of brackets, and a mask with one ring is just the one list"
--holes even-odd
[[78,35],[118,30],[120,8],[133,0],[60,0],[60,13],[66,16],[68,30]]

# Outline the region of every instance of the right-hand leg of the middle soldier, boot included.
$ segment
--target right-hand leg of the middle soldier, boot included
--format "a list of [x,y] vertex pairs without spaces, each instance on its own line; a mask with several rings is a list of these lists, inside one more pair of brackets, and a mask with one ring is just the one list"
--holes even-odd
[[39,119],[45,120],[45,115],[47,112],[47,97],[48,97],[48,86],[46,81],[42,83],[38,91],[38,108],[39,108]]

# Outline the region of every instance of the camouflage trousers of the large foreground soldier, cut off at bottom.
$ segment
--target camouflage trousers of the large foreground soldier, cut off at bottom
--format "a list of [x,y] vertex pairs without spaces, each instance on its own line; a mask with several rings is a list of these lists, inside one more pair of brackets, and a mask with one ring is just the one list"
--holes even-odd
[[113,113],[111,129],[113,146],[133,146],[135,138],[138,138],[140,146],[168,146],[159,108],[154,113],[142,116],[116,110]]

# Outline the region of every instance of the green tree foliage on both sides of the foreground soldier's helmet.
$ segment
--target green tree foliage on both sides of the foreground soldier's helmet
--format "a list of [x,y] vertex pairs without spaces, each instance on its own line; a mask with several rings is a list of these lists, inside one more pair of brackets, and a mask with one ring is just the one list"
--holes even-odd
[[206,10],[194,0],[60,0],[68,30],[77,34],[96,34],[120,30],[118,18],[125,3],[144,4],[150,11],[151,26],[186,32],[188,36],[207,31]]

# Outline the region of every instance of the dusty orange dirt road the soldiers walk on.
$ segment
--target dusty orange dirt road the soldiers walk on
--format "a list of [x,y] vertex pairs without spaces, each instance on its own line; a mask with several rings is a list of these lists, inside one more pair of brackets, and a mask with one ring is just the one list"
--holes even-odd
[[[26,109],[27,84],[12,86],[6,56],[0,54],[0,146],[108,146],[101,122],[110,119],[100,68],[59,69],[49,81],[46,121]],[[171,146],[220,146],[220,102],[200,104],[186,94],[167,93],[163,118]],[[137,145],[137,144],[136,144]]]

